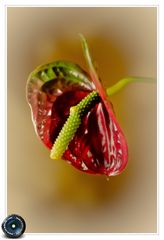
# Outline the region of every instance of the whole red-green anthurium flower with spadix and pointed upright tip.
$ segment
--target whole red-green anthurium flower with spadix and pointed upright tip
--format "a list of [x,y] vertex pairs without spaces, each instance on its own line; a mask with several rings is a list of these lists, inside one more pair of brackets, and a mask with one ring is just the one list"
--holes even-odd
[[[63,159],[86,173],[117,175],[128,161],[127,143],[87,42],[83,36],[81,40],[89,73],[77,64],[56,61],[30,74],[27,100],[33,124],[52,159]],[[108,95],[119,88],[108,89]]]

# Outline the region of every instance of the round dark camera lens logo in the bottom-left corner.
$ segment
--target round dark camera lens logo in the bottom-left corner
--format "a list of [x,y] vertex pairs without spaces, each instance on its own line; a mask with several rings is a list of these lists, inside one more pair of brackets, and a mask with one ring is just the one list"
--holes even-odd
[[2,223],[2,230],[8,238],[19,238],[25,229],[25,220],[16,214],[8,216]]

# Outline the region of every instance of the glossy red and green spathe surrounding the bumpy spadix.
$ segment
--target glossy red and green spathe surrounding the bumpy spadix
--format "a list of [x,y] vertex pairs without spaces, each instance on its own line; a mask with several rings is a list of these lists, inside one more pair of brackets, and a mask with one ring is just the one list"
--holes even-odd
[[[49,149],[66,122],[70,107],[95,91],[85,71],[70,63],[68,66],[72,68],[65,72],[67,64],[59,61],[41,66],[27,83],[27,100],[35,130]],[[125,168],[127,144],[109,102],[100,98],[86,113],[62,158],[92,174],[116,175]]]

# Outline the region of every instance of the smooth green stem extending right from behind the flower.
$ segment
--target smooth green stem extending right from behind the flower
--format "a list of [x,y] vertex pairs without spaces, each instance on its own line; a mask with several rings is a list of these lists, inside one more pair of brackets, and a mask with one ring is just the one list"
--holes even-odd
[[132,82],[145,82],[145,83],[155,83],[152,78],[143,78],[143,77],[127,77],[123,78],[114,84],[112,87],[106,89],[106,93],[108,96],[112,96],[113,94],[120,91],[123,87],[125,87],[128,83]]

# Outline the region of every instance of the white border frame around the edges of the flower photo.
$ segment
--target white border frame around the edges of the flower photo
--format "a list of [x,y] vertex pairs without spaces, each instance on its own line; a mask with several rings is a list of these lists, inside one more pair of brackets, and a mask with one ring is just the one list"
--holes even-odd
[[[38,4],[39,2],[39,4]],[[79,1],[80,2],[80,1]],[[0,88],[0,101],[1,101],[1,118],[0,118],[0,127],[1,127],[1,149],[2,149],[2,158],[1,158],[1,167],[0,167],[0,190],[2,192],[2,197],[1,197],[1,206],[3,206],[3,208],[1,208],[1,212],[0,212],[0,224],[2,223],[2,221],[4,220],[4,218],[6,217],[6,213],[7,213],[7,137],[6,137],[6,133],[7,133],[7,22],[6,22],[6,9],[7,7],[152,7],[152,6],[156,6],[158,7],[160,5],[160,8],[158,10],[158,36],[160,36],[160,40],[159,40],[159,44],[158,44],[158,53],[159,53],[159,46],[160,46],[160,53],[158,54],[158,78],[159,75],[160,77],[163,76],[163,81],[158,81],[158,103],[157,103],[157,108],[158,108],[158,141],[157,141],[157,149],[158,149],[158,185],[157,185],[157,196],[158,196],[158,209],[160,209],[160,211],[158,210],[158,233],[157,234],[106,234],[106,233],[102,233],[102,234],[59,234],[59,233],[54,233],[54,234],[34,234],[34,233],[30,233],[30,234],[26,234],[25,233],[25,237],[29,238],[29,239],[43,239],[43,238],[48,238],[48,239],[52,239],[54,237],[57,237],[58,239],[63,239],[65,237],[68,237],[70,239],[75,239],[78,237],[78,239],[96,239],[96,238],[103,238],[103,239],[164,239],[164,231],[162,228],[162,223],[164,223],[164,219],[163,219],[163,203],[164,203],[164,196],[163,196],[163,192],[162,191],[162,178],[163,178],[163,166],[164,164],[161,162],[159,162],[159,159],[162,160],[162,148],[163,148],[163,144],[162,144],[162,123],[164,123],[164,116],[162,114],[162,97],[164,96],[163,94],[163,90],[164,88],[162,87],[162,84],[164,82],[164,74],[162,74],[162,69],[163,69],[163,62],[161,61],[161,57],[162,57],[162,52],[164,52],[164,47],[162,46],[164,43],[164,37],[162,36],[162,22],[164,22],[164,19],[162,20],[162,18],[164,18],[164,11],[162,9],[162,4],[159,4],[158,1],[144,1],[144,5],[138,5],[138,4],[143,4],[143,1],[138,0],[138,1],[123,1],[122,0],[115,0],[113,1],[104,1],[101,0],[101,5],[99,3],[96,3],[97,1],[94,1],[96,5],[94,4],[90,4],[88,3],[88,0],[83,0],[81,1],[82,3],[79,3],[77,5],[76,1],[69,1],[69,4],[67,1],[60,1],[60,4],[56,4],[54,5],[54,2],[51,0],[46,0],[46,5],[40,5],[41,1],[37,1],[37,0],[29,0],[27,1],[27,3],[25,3],[22,5],[22,1],[21,0],[6,0],[3,1],[1,0],[0,2],[0,31],[1,31],[1,38],[0,38],[0,58],[1,58],[1,78],[2,78],[2,82],[1,82],[1,88]],[[105,2],[105,4],[104,4]],[[136,5],[132,5],[136,4]],[[44,4],[44,2],[42,3]],[[50,5],[48,5],[50,4]],[[85,5],[84,5],[85,4]],[[104,4],[104,5],[103,5]],[[107,5],[108,4],[108,5]],[[110,4],[110,5],[109,5]],[[148,5],[147,5],[148,4]],[[160,22],[159,22],[159,16],[160,16]],[[160,31],[160,34],[159,34]],[[162,48],[163,47],[163,48]],[[160,60],[160,61],[159,61]],[[159,74],[160,73],[160,74]],[[159,88],[160,86],[160,88]],[[163,90],[162,90],[163,89]],[[161,101],[161,106],[159,105],[159,102]],[[160,114],[159,114],[160,112]],[[160,117],[160,119],[159,119]],[[159,133],[159,125],[160,125],[160,133]],[[160,141],[159,141],[160,140]],[[164,158],[163,158],[164,159]],[[162,165],[163,164],[163,165]],[[5,182],[6,181],[6,182]],[[163,181],[164,182],[164,181]],[[159,194],[160,192],[160,194]],[[159,198],[160,197],[160,198]]]

